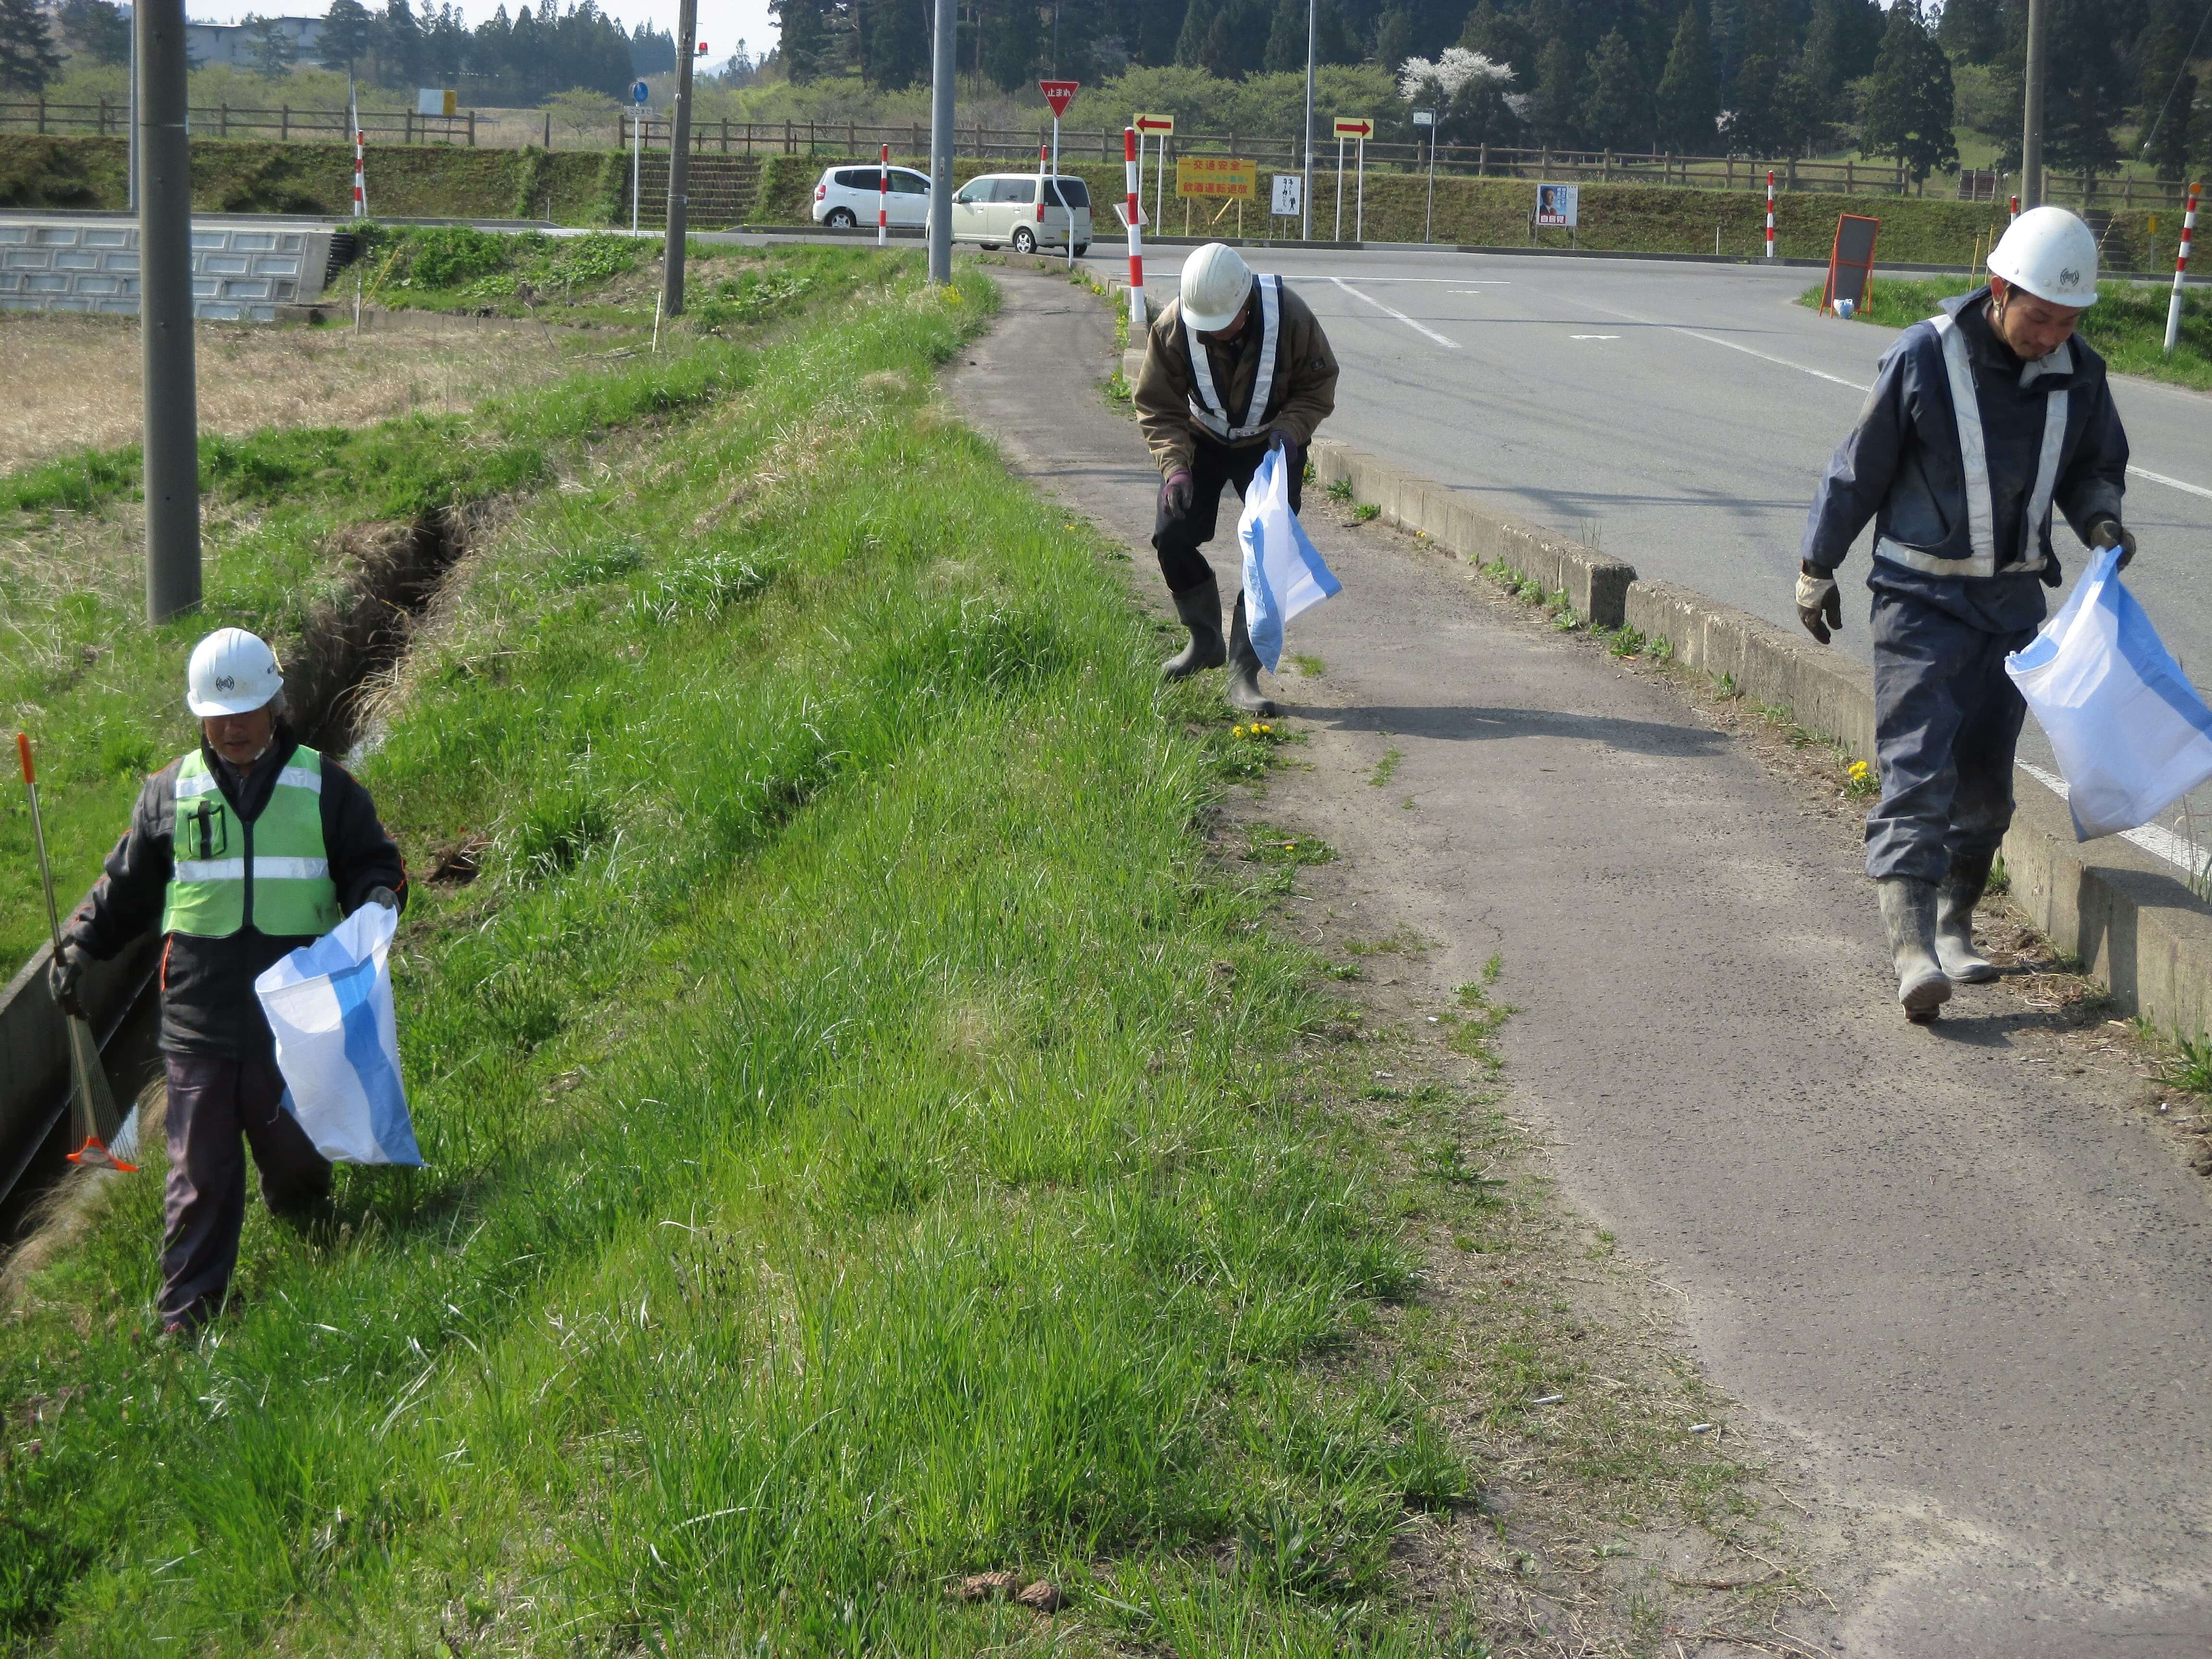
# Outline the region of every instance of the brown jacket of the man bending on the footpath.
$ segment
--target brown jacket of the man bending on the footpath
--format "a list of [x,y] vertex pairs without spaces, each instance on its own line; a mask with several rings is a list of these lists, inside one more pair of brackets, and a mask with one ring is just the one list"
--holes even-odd
[[[1252,383],[1259,376],[1259,292],[1245,301],[1243,332],[1228,343],[1206,345],[1208,372],[1221,394],[1221,407],[1239,425],[1265,425],[1281,431],[1305,449],[1314,442],[1314,429],[1336,409],[1336,354],[1329,336],[1321,332],[1321,319],[1292,292],[1281,290],[1281,312],[1274,341],[1274,385],[1267,392],[1267,409],[1256,418],[1248,414]],[[1183,303],[1168,301],[1168,307],[1152,319],[1144,336],[1144,369],[1137,374],[1135,403],[1144,440],[1152,447],[1152,460],[1161,476],[1190,467],[1192,445],[1203,434],[1208,442],[1219,442],[1190,418],[1192,398],[1190,345],[1183,332]],[[1250,449],[1267,442],[1267,431],[1228,445]]]

